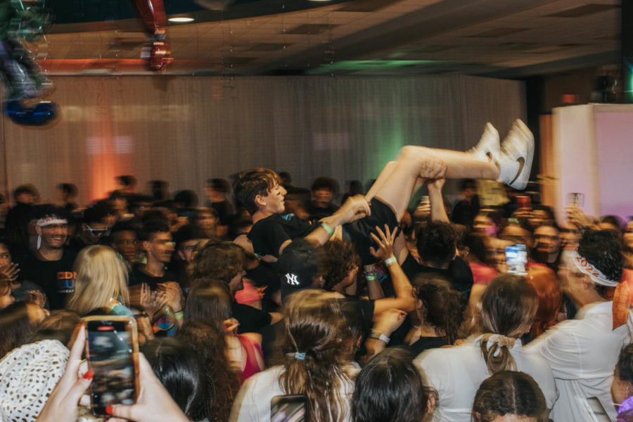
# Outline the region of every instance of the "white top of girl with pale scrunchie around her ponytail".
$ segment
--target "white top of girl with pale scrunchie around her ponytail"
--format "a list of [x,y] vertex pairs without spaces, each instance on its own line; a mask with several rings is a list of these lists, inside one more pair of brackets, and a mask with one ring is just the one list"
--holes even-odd
[[[414,359],[414,364],[424,371],[428,383],[438,393],[433,421],[471,421],[475,393],[482,381],[490,377],[480,339],[478,336],[470,344],[427,350]],[[524,350],[518,339],[510,353],[517,370],[535,379],[545,396],[547,408],[551,409],[558,393],[547,362]]]

